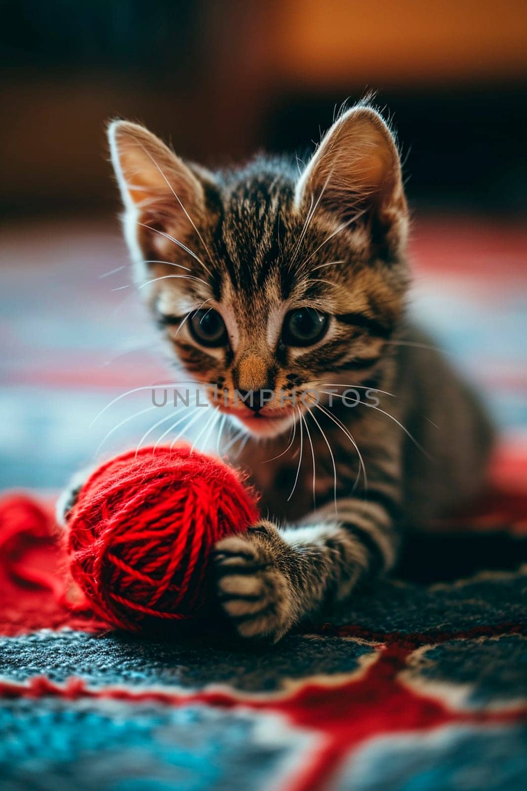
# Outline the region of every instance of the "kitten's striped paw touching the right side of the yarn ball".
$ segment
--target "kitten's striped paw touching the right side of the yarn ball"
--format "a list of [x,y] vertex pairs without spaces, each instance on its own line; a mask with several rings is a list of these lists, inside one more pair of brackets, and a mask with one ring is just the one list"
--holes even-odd
[[238,634],[279,640],[296,613],[288,574],[294,557],[277,528],[262,520],[243,535],[222,539],[214,560],[220,605]]

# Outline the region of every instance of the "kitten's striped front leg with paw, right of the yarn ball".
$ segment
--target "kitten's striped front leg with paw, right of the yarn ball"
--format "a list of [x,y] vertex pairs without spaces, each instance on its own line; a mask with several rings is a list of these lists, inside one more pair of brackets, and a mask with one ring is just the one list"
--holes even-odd
[[261,521],[216,545],[220,604],[241,636],[276,642],[322,604],[348,596],[359,579],[390,567],[397,544],[390,517],[375,502],[342,505],[349,523],[323,521],[324,513],[297,528]]

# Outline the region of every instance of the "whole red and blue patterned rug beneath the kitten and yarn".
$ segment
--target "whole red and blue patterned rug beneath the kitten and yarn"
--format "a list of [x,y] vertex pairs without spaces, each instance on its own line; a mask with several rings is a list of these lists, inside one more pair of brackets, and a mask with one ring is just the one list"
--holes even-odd
[[[163,369],[148,350],[121,349],[102,365],[109,339],[127,338],[130,323],[145,331],[120,290],[115,234],[24,230],[4,242],[17,271],[2,291],[0,486],[32,489],[41,529],[28,521],[21,540],[21,500],[10,496],[0,520],[2,791],[525,788],[525,233],[452,222],[417,233],[428,262],[417,312],[486,389],[502,430],[494,491],[477,513],[413,539],[392,579],[259,648],[220,622],[137,638],[66,606],[44,490],[141,407],[132,396],[128,412],[120,402],[89,432],[104,403]],[[108,451],[144,430],[130,420]]]

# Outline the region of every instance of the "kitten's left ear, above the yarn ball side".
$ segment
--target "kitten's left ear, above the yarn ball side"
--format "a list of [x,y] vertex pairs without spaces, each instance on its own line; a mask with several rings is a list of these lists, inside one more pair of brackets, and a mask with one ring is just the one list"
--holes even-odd
[[138,241],[143,252],[152,245],[161,252],[167,240],[152,229],[184,236],[204,210],[200,181],[183,161],[155,134],[130,121],[114,121],[108,127],[111,161],[126,208],[126,237],[131,247]]

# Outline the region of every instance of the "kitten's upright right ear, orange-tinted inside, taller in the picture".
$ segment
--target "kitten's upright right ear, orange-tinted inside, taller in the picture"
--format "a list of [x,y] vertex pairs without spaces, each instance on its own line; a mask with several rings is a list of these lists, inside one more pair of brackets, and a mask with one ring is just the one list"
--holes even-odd
[[[311,204],[311,201],[313,202]],[[369,221],[371,232],[398,252],[408,207],[401,162],[390,129],[375,110],[356,107],[333,123],[299,179],[299,210],[318,206],[339,224]]]

